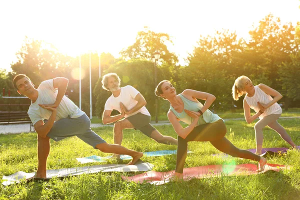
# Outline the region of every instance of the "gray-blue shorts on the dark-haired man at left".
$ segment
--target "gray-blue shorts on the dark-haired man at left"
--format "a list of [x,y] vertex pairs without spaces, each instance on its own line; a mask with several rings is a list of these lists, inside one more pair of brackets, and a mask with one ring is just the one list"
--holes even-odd
[[95,146],[106,141],[90,129],[90,120],[86,114],[77,118],[64,118],[54,122],[47,136],[54,141],[59,141],[66,137],[77,136],[85,143]]

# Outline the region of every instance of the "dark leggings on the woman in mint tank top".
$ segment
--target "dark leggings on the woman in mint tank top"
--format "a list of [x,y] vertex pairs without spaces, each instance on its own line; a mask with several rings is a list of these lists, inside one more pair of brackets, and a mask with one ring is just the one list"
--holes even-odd
[[176,160],[176,172],[182,173],[187,154],[188,141],[209,141],[218,150],[233,157],[241,157],[255,161],[260,160],[260,156],[248,150],[236,148],[225,137],[226,126],[222,119],[213,123],[205,123],[195,126],[185,139],[178,135],[178,148]]

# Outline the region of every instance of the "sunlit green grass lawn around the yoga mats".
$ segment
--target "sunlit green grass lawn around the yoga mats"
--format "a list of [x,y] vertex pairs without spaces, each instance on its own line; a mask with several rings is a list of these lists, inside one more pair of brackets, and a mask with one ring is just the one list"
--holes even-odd
[[[289,114],[287,114],[289,115]],[[299,115],[299,114],[298,114]],[[299,119],[280,119],[296,144],[300,144]],[[226,121],[226,137],[239,148],[255,148],[254,123],[244,120]],[[165,135],[176,137],[171,125],[156,126]],[[113,142],[112,127],[93,129],[107,142]],[[265,128],[263,147],[289,147],[276,132]],[[139,131],[124,130],[122,145],[138,150],[152,151],[176,149],[175,145],[156,143]],[[224,163],[255,163],[238,158],[211,156],[218,153],[209,142],[189,142],[185,167]],[[92,154],[105,156],[77,137],[59,142],[51,140],[51,151],[47,169],[85,166],[99,163],[80,164],[76,157]],[[21,182],[0,186],[0,199],[299,199],[300,198],[300,152],[289,150],[286,154],[271,157],[269,163],[291,165],[288,170],[266,172],[248,176],[221,176],[216,178],[192,179],[186,182],[170,182],[160,186],[149,183],[135,184],[121,179],[121,175],[138,173],[96,173],[64,179],[53,178],[44,182]],[[175,155],[143,157],[143,161],[154,164],[155,171],[175,168]],[[115,163],[109,160],[106,163]],[[125,163],[126,161],[124,161]],[[122,162],[121,162],[122,163]],[[0,135],[0,177],[16,171],[32,172],[37,167],[36,133]]]

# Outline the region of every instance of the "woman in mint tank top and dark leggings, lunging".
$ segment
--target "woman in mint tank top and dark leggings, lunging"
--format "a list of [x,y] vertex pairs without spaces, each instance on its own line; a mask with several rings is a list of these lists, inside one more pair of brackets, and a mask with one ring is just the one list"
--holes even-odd
[[[158,83],[155,94],[170,102],[167,116],[178,134],[175,176],[182,177],[188,141],[209,141],[215,148],[233,157],[258,161],[258,171],[264,169],[266,163],[264,157],[248,150],[238,149],[226,139],[225,123],[208,109],[215,100],[214,95],[193,89],[185,89],[177,95],[175,88],[168,80]],[[204,105],[197,98],[205,100]],[[178,120],[187,123],[188,126],[183,128]]]

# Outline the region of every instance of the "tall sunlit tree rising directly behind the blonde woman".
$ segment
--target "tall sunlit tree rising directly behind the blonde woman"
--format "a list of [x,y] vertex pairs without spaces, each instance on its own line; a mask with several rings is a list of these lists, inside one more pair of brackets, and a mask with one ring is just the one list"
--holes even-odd
[[255,59],[249,60],[257,67],[257,76],[263,74],[271,81],[270,86],[281,89],[278,66],[282,62],[290,62],[289,54],[295,52],[294,27],[292,24],[281,24],[278,17],[267,15],[259,21],[259,25],[249,31],[251,40],[248,50]]

